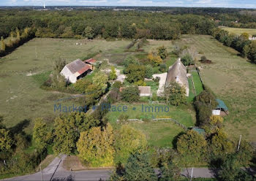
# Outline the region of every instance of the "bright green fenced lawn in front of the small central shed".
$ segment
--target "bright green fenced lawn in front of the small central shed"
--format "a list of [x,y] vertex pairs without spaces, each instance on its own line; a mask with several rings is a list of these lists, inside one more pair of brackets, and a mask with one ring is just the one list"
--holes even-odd
[[[126,105],[128,108],[127,112],[108,112],[106,117],[110,120],[110,123],[116,125],[116,120],[120,115],[128,115],[129,119],[141,118],[145,120],[143,123],[136,122],[129,124],[146,134],[148,144],[151,146],[173,147],[172,142],[175,136],[184,131],[183,128],[173,122],[152,122],[152,118],[173,118],[187,127],[195,124],[195,112],[185,108],[166,106],[165,104],[143,104],[144,108],[146,106],[152,106],[154,108],[162,106],[164,109],[165,107],[169,107],[169,111],[167,112],[145,112],[145,109],[142,111],[142,104],[116,104],[116,106],[118,105]],[[135,108],[135,110],[132,108]]]

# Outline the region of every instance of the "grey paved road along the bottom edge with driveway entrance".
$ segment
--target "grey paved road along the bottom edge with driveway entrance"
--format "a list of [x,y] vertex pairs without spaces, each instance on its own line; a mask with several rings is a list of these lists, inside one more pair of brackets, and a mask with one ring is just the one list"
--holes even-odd
[[[56,157],[49,166],[47,166],[45,169],[42,170],[43,174],[43,180],[56,180],[61,178],[66,178],[72,175],[74,180],[108,180],[110,177],[111,170],[110,169],[90,169],[90,170],[83,170],[83,171],[77,171],[77,172],[71,172],[63,169],[62,163],[67,155],[62,155],[61,158]],[[184,171],[181,173],[184,176],[188,177],[191,175],[192,169],[184,169]],[[209,169],[194,169],[193,177],[214,177],[214,174]],[[42,180],[42,176],[40,172],[37,172],[35,174],[29,174],[25,176],[20,177],[14,177],[7,179],[10,181],[15,180],[26,180],[26,181],[32,181],[32,180]]]

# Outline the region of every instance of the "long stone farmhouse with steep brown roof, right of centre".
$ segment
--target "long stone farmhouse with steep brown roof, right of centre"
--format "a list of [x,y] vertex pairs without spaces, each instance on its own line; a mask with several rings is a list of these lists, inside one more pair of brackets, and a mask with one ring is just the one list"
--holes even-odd
[[181,63],[181,58],[169,67],[165,88],[170,85],[170,82],[178,82],[186,89],[186,96],[189,96],[189,82],[187,80],[187,67]]

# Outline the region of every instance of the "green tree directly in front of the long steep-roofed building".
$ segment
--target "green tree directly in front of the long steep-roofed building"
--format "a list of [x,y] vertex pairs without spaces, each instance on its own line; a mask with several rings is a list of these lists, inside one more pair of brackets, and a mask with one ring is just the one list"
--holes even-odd
[[177,82],[170,82],[170,85],[165,88],[165,99],[168,104],[174,106],[185,104],[187,101],[186,90]]

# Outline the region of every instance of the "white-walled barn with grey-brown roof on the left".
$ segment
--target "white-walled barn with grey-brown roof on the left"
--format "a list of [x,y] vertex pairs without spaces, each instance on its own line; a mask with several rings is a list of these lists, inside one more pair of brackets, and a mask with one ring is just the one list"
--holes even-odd
[[89,63],[84,63],[80,59],[68,63],[61,70],[61,74],[64,75],[67,82],[75,83],[80,78],[86,76],[92,71],[92,66]]

